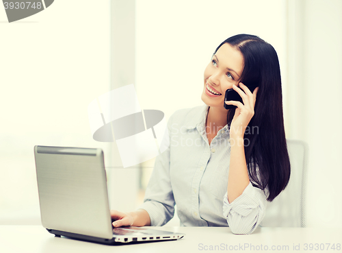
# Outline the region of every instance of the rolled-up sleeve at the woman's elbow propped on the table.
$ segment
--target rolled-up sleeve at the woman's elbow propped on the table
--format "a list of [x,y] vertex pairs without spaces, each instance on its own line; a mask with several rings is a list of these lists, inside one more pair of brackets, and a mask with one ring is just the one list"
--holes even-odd
[[223,215],[234,234],[251,234],[263,220],[267,206],[267,192],[252,186],[250,182],[244,192],[233,202],[223,200]]

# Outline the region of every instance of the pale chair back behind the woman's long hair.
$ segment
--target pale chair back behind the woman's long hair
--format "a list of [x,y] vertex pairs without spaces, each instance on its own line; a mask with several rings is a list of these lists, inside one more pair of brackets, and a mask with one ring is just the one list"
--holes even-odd
[[267,202],[263,227],[305,227],[305,191],[308,145],[287,140],[291,164],[289,184],[272,202]]

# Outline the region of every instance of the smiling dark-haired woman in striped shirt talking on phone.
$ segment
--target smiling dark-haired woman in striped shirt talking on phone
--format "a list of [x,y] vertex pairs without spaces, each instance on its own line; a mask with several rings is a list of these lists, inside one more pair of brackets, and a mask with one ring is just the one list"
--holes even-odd
[[[258,86],[253,93],[251,85]],[[244,103],[224,102],[228,88]],[[170,117],[170,147],[156,158],[144,204],[131,213],[111,210],[113,226],[162,226],[177,204],[181,226],[250,234],[267,200],[285,189],[290,163],[274,48],[248,34],[224,40],[205,69],[202,101]]]

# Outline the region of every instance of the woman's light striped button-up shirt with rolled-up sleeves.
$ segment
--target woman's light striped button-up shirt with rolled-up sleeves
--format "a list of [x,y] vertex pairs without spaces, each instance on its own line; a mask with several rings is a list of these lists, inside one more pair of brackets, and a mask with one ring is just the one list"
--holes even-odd
[[150,215],[151,226],[166,224],[176,204],[181,226],[229,226],[235,234],[250,234],[265,215],[267,193],[250,183],[228,202],[228,125],[209,145],[208,109],[204,105],[178,110],[170,117],[170,147],[155,160],[140,208]]

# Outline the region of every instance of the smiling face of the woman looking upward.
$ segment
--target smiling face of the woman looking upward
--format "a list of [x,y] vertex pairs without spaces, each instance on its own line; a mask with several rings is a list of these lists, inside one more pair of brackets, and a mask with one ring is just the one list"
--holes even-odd
[[226,110],[224,109],[224,94],[228,88],[233,88],[233,84],[239,86],[243,70],[244,57],[242,53],[228,43],[224,43],[205,68],[202,101],[207,106]]

